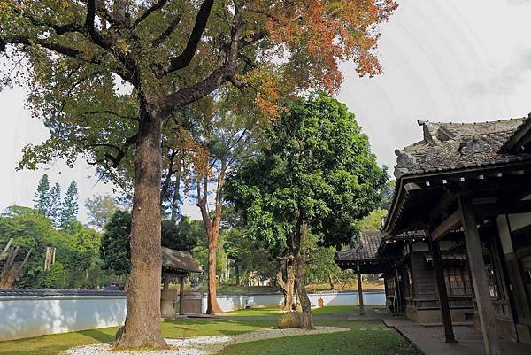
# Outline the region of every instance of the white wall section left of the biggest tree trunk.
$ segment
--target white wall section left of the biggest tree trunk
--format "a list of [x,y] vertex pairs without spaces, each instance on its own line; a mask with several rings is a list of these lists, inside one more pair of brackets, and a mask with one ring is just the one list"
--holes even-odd
[[125,296],[0,297],[0,341],[119,326]]

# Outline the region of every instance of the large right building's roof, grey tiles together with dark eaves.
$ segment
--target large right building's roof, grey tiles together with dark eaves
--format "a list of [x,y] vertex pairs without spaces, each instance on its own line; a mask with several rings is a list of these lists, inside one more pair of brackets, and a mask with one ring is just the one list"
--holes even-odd
[[[531,166],[531,115],[473,123],[419,120],[418,124],[422,140],[395,151],[396,189],[383,228],[390,237],[404,230],[428,228],[426,224],[434,216],[427,213],[430,206],[443,201],[445,184],[499,177],[504,169],[509,174],[523,174]],[[512,189],[512,185],[504,189]]]

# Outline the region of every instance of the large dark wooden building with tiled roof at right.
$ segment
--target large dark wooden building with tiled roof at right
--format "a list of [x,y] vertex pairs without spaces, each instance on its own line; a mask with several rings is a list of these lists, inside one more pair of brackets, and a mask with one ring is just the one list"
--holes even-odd
[[448,342],[453,323],[473,321],[488,354],[498,338],[531,344],[531,117],[419,126],[423,139],[396,150],[371,270],[396,313],[442,321]]

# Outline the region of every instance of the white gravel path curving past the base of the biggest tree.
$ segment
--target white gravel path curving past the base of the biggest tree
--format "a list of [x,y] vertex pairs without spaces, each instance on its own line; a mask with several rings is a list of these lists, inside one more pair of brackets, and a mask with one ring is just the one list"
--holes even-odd
[[65,355],[206,355],[215,354],[235,343],[247,343],[257,340],[273,339],[284,336],[307,336],[344,332],[349,328],[316,327],[313,330],[301,328],[263,329],[235,336],[196,336],[186,339],[166,339],[171,349],[164,351],[113,351],[109,343],[77,346],[62,352]]

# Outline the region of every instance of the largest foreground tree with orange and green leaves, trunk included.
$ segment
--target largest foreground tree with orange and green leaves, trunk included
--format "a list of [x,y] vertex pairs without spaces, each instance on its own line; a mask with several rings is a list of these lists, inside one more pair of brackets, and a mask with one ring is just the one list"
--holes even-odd
[[[51,138],[21,167],[84,155],[105,174],[134,166],[132,269],[117,347],[160,333],[163,124],[225,85],[274,114],[275,97],[335,92],[338,66],[381,72],[373,50],[392,0],[1,0],[3,85],[24,84]],[[24,68],[20,68],[24,66]],[[15,73],[13,73],[13,71]]]

